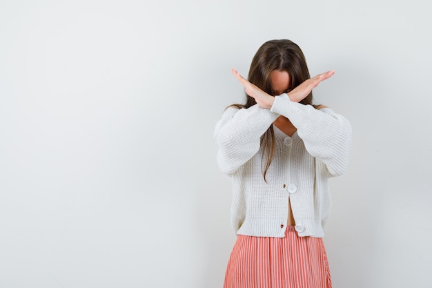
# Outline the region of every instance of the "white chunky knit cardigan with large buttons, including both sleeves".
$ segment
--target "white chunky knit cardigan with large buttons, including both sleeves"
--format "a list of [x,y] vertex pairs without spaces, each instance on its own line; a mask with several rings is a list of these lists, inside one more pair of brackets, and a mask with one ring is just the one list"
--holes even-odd
[[[288,137],[273,126],[275,155],[265,182],[260,137],[279,115],[290,119],[297,132]],[[282,94],[271,109],[226,109],[214,135],[219,169],[233,178],[231,222],[237,234],[284,237],[289,199],[299,236],[324,237],[331,209],[328,178],[344,173],[351,151],[351,124],[345,117]]]

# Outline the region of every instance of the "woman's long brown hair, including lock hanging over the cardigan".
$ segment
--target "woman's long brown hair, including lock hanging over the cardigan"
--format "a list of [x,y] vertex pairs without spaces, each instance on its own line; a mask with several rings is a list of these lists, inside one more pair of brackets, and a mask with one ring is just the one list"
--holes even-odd
[[[252,59],[251,68],[249,68],[248,80],[264,92],[273,95],[270,79],[270,73],[273,70],[288,72],[291,79],[291,89],[299,86],[303,81],[311,77],[302,50],[293,41],[287,39],[266,41],[266,43],[259,47]],[[240,109],[249,108],[257,104],[253,97],[247,95],[247,93],[245,95],[246,104],[233,104],[230,106]],[[305,105],[312,104],[312,92],[300,103]],[[266,164],[263,171],[263,177],[266,181],[268,167],[275,155],[275,132],[273,125],[262,135],[261,145],[264,145],[264,154],[266,155]],[[262,164],[264,163],[264,154],[262,156]]]

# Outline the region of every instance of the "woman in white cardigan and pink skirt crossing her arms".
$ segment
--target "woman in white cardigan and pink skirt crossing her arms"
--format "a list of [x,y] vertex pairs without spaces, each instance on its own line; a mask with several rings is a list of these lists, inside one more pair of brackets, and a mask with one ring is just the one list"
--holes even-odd
[[312,89],[334,71],[310,78],[290,40],[264,43],[253,57],[246,104],[217,122],[219,168],[233,177],[231,222],[237,240],[224,288],[331,287],[322,242],[331,209],[328,178],[342,175],[351,124],[312,104]]

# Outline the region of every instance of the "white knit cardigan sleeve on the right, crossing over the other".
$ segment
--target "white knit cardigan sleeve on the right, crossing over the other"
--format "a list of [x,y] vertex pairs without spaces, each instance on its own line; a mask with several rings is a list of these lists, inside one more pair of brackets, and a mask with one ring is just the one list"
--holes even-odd
[[322,160],[331,175],[346,171],[352,128],[345,117],[331,108],[317,110],[311,105],[292,102],[287,94],[276,96],[270,110],[290,119],[308,153]]

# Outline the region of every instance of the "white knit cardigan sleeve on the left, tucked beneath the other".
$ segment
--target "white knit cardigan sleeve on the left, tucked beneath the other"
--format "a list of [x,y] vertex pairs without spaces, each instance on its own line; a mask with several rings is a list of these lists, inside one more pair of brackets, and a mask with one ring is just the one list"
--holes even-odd
[[257,104],[249,108],[229,107],[217,122],[214,137],[219,147],[217,164],[230,175],[259,150],[260,138],[279,115]]

